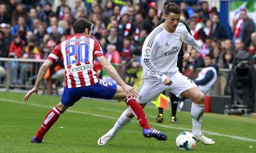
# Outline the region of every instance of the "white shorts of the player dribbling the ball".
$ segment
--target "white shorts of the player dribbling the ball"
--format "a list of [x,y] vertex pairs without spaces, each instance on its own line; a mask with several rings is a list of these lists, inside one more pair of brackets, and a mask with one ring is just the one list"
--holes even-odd
[[168,77],[171,79],[171,81],[173,81],[171,86],[164,85],[160,80],[143,80],[142,85],[140,85],[138,90],[139,96],[136,98],[137,102],[140,104],[145,104],[150,101],[156,101],[158,96],[165,90],[175,94],[177,97],[181,97],[181,93],[187,89],[197,86],[195,85],[194,81],[182,75],[179,71],[171,74]]

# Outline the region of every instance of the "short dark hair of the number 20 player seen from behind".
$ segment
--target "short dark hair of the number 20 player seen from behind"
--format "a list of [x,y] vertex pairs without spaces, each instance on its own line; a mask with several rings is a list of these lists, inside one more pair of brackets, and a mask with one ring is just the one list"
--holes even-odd
[[86,28],[90,31],[91,27],[92,23],[82,17],[77,19],[73,25],[74,33],[84,33]]

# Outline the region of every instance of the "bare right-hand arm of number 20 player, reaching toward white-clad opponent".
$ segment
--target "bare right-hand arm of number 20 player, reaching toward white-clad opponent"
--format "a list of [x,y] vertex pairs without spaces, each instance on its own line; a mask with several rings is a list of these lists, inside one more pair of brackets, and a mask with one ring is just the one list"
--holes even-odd
[[117,84],[122,87],[122,89],[124,89],[124,92],[127,94],[127,98],[132,95],[137,97],[138,94],[134,91],[134,88],[127,85],[124,80],[122,80],[116,69],[105,59],[104,56],[97,56],[96,58],[100,62],[101,66],[106,70],[106,72],[108,72],[109,76],[113,78]]

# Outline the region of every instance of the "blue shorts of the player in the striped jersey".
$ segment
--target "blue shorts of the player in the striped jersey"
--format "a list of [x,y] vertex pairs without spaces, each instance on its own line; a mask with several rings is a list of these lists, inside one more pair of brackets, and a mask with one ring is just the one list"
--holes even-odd
[[112,99],[116,94],[117,85],[104,80],[99,80],[90,86],[82,86],[79,88],[64,88],[61,96],[61,103],[66,107],[70,107],[79,101],[81,97],[95,97],[100,99]]

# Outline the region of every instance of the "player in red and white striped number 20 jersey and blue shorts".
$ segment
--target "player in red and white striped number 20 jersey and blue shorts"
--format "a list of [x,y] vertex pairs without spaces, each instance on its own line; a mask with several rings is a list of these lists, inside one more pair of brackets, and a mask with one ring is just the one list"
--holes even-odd
[[[107,62],[98,41],[90,38],[92,35],[92,23],[85,19],[77,20],[74,25],[75,35],[72,38],[59,43],[41,66],[34,87],[23,98],[27,101],[31,94],[38,93],[38,87],[48,68],[59,58],[62,58],[65,66],[65,88],[61,102],[53,107],[45,117],[39,130],[33,136],[31,143],[43,143],[43,137],[58,120],[65,110],[79,101],[81,97],[96,97],[101,99],[119,99],[125,101],[130,111],[139,120],[143,128],[142,133],[147,138],[156,138],[164,141],[167,136],[148,125],[147,118],[140,104],[133,98],[137,96],[134,88],[127,85],[118,75],[116,69]],[[93,68],[93,60],[98,59],[102,67],[118,83],[110,83],[98,78]],[[98,144],[101,143],[101,139]]]

